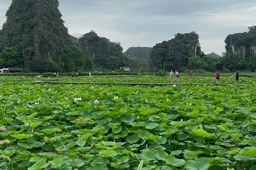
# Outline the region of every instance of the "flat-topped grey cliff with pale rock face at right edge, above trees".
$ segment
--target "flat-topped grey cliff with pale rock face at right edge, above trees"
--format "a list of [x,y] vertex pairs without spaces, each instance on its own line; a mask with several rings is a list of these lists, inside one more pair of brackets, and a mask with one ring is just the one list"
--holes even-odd
[[227,54],[245,58],[256,56],[256,33],[244,32],[228,35],[226,43]]

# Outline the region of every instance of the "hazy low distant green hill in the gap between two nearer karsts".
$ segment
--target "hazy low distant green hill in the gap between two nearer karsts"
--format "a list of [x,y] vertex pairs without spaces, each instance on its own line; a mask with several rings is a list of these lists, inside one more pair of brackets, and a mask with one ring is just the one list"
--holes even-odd
[[130,47],[124,54],[129,58],[132,68],[146,68],[151,50],[151,47]]

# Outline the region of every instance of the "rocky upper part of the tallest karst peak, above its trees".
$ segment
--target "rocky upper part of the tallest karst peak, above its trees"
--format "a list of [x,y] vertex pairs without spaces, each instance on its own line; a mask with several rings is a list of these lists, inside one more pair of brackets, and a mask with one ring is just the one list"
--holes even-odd
[[12,0],[0,31],[2,47],[15,46],[24,60],[54,60],[59,50],[71,44],[58,7],[58,0]]

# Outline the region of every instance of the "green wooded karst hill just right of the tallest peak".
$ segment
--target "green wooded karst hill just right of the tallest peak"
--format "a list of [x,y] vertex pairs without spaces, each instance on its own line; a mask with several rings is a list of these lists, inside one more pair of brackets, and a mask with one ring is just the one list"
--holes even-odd
[[119,69],[121,66],[129,66],[129,60],[123,54],[120,43],[99,37],[94,31],[84,34],[79,39],[79,45],[90,54],[97,68]]

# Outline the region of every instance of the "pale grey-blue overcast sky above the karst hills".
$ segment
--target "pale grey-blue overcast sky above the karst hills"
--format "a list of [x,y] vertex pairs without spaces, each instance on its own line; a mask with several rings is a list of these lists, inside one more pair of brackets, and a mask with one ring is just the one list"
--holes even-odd
[[[69,34],[90,30],[112,42],[149,46],[195,31],[202,50],[221,55],[228,34],[256,25],[255,0],[59,0]],[[0,0],[0,25],[11,0]]]

